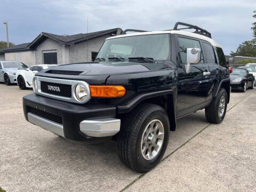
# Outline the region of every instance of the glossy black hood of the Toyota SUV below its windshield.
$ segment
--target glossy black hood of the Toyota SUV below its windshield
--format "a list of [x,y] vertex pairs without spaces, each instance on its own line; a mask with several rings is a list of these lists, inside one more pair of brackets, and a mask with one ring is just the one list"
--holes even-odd
[[170,68],[164,63],[148,63],[148,62],[90,62],[90,63],[74,63],[68,65],[61,65],[45,69],[42,72],[45,73],[58,73],[66,74],[72,71],[77,73],[77,75],[114,75],[114,74],[132,74],[141,73],[151,70],[163,70]]

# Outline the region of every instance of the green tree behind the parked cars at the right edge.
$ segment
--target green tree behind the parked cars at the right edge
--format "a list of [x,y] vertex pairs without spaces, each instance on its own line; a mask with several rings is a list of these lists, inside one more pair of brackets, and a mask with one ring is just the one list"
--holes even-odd
[[231,51],[231,56],[256,57],[256,38],[239,44],[236,52]]

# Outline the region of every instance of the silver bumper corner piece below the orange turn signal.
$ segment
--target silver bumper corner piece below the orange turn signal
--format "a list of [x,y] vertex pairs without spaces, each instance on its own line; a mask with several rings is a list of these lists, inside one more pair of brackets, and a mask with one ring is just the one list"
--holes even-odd
[[84,120],[80,123],[80,131],[89,137],[108,137],[120,131],[121,120],[101,118]]

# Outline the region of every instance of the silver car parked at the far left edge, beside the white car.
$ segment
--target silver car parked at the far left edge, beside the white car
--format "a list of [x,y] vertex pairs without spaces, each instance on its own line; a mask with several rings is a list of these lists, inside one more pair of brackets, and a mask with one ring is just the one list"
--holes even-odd
[[0,82],[4,82],[5,85],[17,83],[17,70],[27,67],[24,63],[18,61],[0,61]]

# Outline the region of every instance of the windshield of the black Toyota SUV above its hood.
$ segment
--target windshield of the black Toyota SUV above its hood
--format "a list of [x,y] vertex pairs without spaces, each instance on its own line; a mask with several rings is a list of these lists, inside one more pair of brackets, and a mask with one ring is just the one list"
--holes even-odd
[[108,39],[97,58],[151,58],[166,60],[170,52],[169,34],[138,35]]

